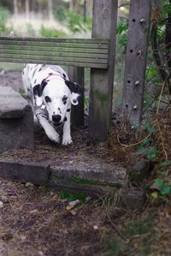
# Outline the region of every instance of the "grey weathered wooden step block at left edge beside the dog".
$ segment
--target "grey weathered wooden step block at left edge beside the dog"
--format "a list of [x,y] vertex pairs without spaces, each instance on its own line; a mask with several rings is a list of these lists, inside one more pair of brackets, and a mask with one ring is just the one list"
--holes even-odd
[[32,107],[7,86],[0,86],[0,152],[34,149]]

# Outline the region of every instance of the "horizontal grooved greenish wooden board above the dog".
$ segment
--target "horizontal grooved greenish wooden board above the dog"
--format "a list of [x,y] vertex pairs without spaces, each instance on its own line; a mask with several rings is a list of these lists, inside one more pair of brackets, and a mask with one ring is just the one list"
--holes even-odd
[[0,61],[108,68],[109,41],[0,38]]

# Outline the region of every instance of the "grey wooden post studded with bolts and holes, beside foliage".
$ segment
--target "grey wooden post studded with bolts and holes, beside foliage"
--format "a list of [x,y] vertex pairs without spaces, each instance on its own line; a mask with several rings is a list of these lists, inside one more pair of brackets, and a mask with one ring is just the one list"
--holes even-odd
[[131,125],[139,122],[150,29],[150,0],[131,0],[122,110]]

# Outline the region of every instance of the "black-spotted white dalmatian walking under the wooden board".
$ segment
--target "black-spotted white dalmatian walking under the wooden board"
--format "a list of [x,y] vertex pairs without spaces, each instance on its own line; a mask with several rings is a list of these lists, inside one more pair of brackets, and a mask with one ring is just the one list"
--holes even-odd
[[59,143],[56,128],[62,127],[62,145],[71,144],[71,104],[79,104],[80,85],[69,81],[68,74],[59,66],[25,64],[22,81],[34,117],[50,140]]

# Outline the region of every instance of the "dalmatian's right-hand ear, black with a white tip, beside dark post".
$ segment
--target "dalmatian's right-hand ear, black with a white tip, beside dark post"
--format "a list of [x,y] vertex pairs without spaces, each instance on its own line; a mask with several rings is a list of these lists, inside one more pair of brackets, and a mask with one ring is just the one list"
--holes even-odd
[[71,103],[74,105],[79,104],[81,86],[77,83],[71,82],[70,80],[65,80],[65,83],[71,91]]

